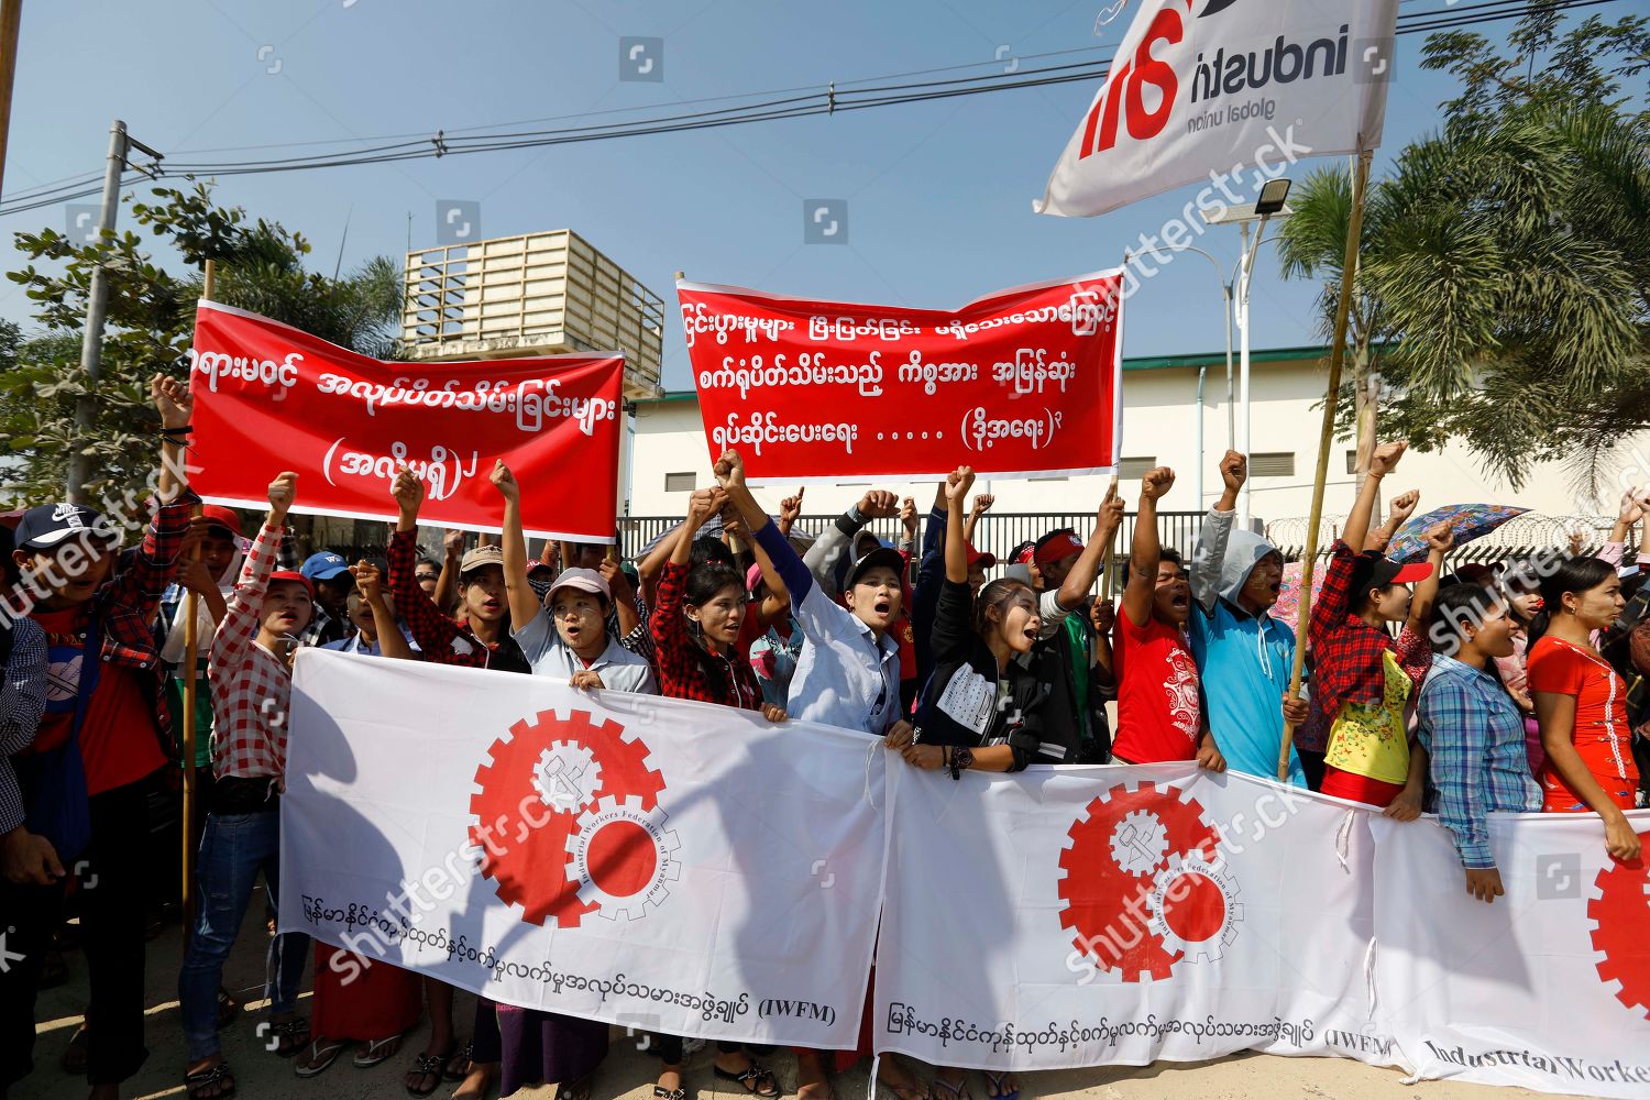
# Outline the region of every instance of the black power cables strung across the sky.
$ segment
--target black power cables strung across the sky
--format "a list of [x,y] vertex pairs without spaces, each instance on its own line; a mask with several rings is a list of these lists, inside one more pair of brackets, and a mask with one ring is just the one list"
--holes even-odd
[[[1407,2],[1407,0],[1406,0]],[[1596,7],[1599,3],[1614,3],[1615,0],[1558,0],[1553,5],[1554,12],[1568,12],[1571,8]],[[1513,18],[1528,12],[1528,0],[1483,0],[1480,3],[1472,3],[1462,8],[1452,10],[1449,15],[1439,15],[1436,12],[1421,13],[1399,13],[1398,16],[1398,35],[1412,35],[1422,31],[1445,30],[1455,26],[1477,26],[1480,23],[1488,23],[1495,20]],[[1076,53],[1092,53],[1096,49],[1110,49],[1112,46],[1082,46],[1076,49],[1059,49],[1043,54],[1028,54],[1023,59],[1031,58],[1054,58],[1069,56]],[[728,102],[738,99],[752,99],[762,94],[779,94],[777,99],[766,99],[759,102],[749,102],[733,107],[716,107],[711,110],[691,110],[678,114],[652,115],[644,119],[635,119],[629,122],[597,122],[586,125],[573,125],[561,129],[546,130],[510,130],[490,127],[465,127],[452,130],[450,134],[441,130],[434,137],[429,135],[388,135],[386,139],[356,139],[378,142],[375,145],[366,145],[365,148],[342,150],[337,153],[309,153],[302,157],[289,158],[262,158],[262,160],[239,160],[239,162],[165,162],[153,178],[162,176],[231,176],[231,175],[262,175],[269,172],[305,172],[312,168],[342,168],[355,165],[378,165],[378,163],[394,163],[404,160],[424,160],[439,158],[459,153],[482,153],[482,152],[507,152],[521,148],[544,148],[551,145],[568,145],[579,142],[597,142],[597,140],[614,140],[624,137],[650,137],[657,134],[683,134],[691,130],[721,129],[729,125],[749,125],[756,122],[776,122],[784,119],[802,119],[812,115],[830,115],[850,110],[868,110],[873,107],[893,107],[916,102],[932,102],[937,99],[954,99],[962,96],[980,96],[1003,91],[1020,91],[1026,87],[1051,87],[1059,84],[1097,81],[1104,79],[1110,69],[1109,61],[1077,61],[1068,64],[1051,64],[1035,69],[1018,69],[1015,73],[993,73],[983,76],[962,76],[950,79],[932,79],[932,81],[914,81],[914,82],[898,82],[898,84],[879,84],[878,81],[904,81],[912,76],[924,76],[932,73],[954,73],[962,69],[980,68],[983,64],[1000,64],[995,61],[977,61],[964,63],[955,66],[939,66],[932,69],[917,69],[911,73],[894,73],[879,78],[858,78],[853,81],[843,81],[837,84],[828,84],[823,89],[817,84],[795,87],[795,89],[777,89],[777,92],[744,92],[731,96],[718,96],[700,101],[688,101],[676,104],[676,107],[711,104],[711,102]],[[787,92],[807,92],[790,96]],[[561,115],[563,119],[591,119],[606,114],[634,114],[639,109],[614,109],[606,112],[591,112],[584,115]],[[540,119],[528,122],[544,122],[558,119]],[[503,124],[503,125],[521,125],[521,124]],[[483,132],[478,132],[483,130]],[[404,139],[404,140],[391,140]],[[327,143],[342,142],[297,142],[292,147],[318,147]],[[276,145],[252,145],[243,148],[277,148]],[[211,152],[211,150],[196,150]],[[68,183],[59,186],[41,185],[21,195],[12,198],[10,203],[0,204],[0,216],[16,214],[31,209],[40,209],[43,206],[53,206],[64,201],[73,201],[76,198],[84,198],[87,195],[96,195],[99,186],[92,185],[91,180],[97,176],[68,176]]]

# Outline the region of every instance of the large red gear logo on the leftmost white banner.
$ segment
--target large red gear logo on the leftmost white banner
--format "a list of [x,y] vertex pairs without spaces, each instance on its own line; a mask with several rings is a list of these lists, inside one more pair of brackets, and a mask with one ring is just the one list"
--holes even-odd
[[[657,844],[637,844],[634,836],[601,844],[606,856],[594,867],[606,889],[591,889],[586,864],[573,867],[581,815],[612,801],[652,815],[665,790],[647,745],[619,722],[597,726],[586,711],[540,711],[512,726],[487,755],[475,769],[470,843],[482,851],[482,874],[493,879],[498,900],[520,907],[521,920],[576,928],[622,897],[624,886],[647,891],[660,876],[675,877],[675,833],[665,830],[642,833],[660,838]],[[645,867],[630,872],[627,864]]]

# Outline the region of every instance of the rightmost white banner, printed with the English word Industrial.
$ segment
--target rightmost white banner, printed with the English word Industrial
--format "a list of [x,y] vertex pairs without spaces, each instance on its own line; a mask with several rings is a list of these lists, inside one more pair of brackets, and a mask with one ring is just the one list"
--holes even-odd
[[1642,859],[1612,861],[1591,815],[1495,815],[1506,897],[1485,905],[1465,897],[1444,830],[1373,826],[1376,1016],[1419,1077],[1650,1097]]

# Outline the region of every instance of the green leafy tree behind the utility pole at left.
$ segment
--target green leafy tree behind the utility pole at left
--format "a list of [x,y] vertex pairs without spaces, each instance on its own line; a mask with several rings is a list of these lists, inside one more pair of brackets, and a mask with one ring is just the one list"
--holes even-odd
[[[5,495],[15,505],[61,498],[74,447],[89,458],[89,500],[120,500],[122,490],[144,485],[157,447],[148,378],[188,373],[206,259],[216,266],[216,300],[363,355],[393,355],[401,275],[391,261],[371,259],[342,279],[305,270],[310,246],[300,234],[251,221],[241,208],[216,206],[206,185],[157,188],[148,203],[132,195],[124,201],[130,221],[177,249],[185,274],[155,264],[153,242],[130,229],[91,244],[51,229],[16,234],[28,266],[7,277],[33,300],[38,333],[26,340],[0,333],[0,437],[10,450]],[[97,264],[109,272],[102,369],[94,424],[78,437],[86,294]]]

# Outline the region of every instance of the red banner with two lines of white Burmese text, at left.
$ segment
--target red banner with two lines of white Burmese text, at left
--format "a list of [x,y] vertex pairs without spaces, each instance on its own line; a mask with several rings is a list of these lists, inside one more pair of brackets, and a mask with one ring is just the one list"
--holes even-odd
[[612,543],[620,355],[383,363],[267,317],[201,302],[190,348],[190,483],[264,508],[299,473],[294,511],[394,519],[401,467],[424,480],[419,521],[498,531],[488,482],[503,458],[526,487],[528,534]]

